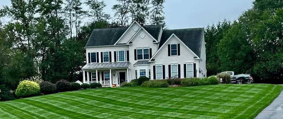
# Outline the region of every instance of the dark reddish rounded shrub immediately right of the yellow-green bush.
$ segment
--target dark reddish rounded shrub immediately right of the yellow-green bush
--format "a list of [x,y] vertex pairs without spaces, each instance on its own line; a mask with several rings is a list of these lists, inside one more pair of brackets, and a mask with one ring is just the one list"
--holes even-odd
[[39,86],[40,86],[40,92],[43,93],[44,95],[53,94],[56,91],[56,85],[48,81],[40,82]]

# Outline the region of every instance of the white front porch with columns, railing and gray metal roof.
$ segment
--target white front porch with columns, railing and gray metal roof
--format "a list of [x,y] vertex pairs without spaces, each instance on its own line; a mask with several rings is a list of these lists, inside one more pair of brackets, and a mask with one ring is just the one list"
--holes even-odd
[[86,64],[83,70],[83,83],[100,83],[102,87],[119,87],[122,82],[130,82],[130,63],[113,62]]

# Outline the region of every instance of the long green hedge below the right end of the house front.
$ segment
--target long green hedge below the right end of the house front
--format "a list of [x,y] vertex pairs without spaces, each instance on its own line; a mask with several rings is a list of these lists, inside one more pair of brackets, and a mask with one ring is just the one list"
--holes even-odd
[[184,79],[181,84],[185,87],[188,86],[200,86],[200,85],[214,85],[220,84],[219,80],[216,77],[209,77],[209,78],[186,78]]

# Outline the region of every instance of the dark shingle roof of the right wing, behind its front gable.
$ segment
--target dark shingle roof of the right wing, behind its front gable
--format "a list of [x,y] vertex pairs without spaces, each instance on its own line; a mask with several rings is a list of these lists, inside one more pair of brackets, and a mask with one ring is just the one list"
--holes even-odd
[[186,46],[188,46],[196,55],[198,55],[198,57],[200,57],[204,28],[163,30],[159,48],[173,33],[180,40],[182,40],[186,44]]

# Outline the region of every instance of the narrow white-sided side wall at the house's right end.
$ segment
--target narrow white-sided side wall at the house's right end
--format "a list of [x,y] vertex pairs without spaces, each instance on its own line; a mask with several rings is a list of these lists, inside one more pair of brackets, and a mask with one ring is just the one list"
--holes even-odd
[[202,35],[202,44],[201,44],[201,52],[200,52],[200,69],[203,71],[202,73],[206,76],[206,48],[205,48],[205,40],[204,35]]

